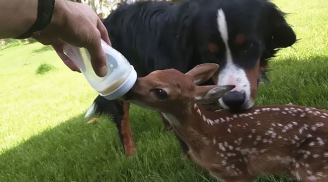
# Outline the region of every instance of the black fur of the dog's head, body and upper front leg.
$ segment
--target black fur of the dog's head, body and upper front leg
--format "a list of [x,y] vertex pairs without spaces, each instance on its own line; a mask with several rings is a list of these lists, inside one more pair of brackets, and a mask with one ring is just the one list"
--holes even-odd
[[[138,76],[167,68],[186,72],[201,63],[217,63],[221,69],[226,64],[226,47],[217,29],[218,9],[226,14],[229,38],[238,33],[246,37],[242,45],[229,42],[235,64],[244,69],[253,68],[260,58],[261,70],[265,70],[277,50],[296,41],[284,14],[266,0],[123,4],[103,23],[113,47],[130,61]],[[215,52],[209,51],[209,43],[217,46]],[[96,113],[114,116],[120,130],[117,115],[123,112],[118,101],[98,96],[94,104]]]

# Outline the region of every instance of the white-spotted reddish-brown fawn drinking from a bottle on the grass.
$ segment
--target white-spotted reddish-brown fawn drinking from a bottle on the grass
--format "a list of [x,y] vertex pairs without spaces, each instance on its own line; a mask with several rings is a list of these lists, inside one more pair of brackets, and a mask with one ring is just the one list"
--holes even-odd
[[138,78],[124,99],[161,112],[188,145],[191,160],[217,179],[252,181],[287,172],[298,181],[328,181],[328,112],[295,105],[205,110],[201,104],[234,88],[197,86],[217,69],[201,64],[185,74],[154,71]]

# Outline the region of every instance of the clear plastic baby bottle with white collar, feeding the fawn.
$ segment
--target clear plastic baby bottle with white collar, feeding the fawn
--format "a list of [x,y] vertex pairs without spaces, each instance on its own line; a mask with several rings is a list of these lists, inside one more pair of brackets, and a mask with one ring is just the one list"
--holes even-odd
[[129,61],[113,47],[101,40],[107,57],[108,72],[99,77],[93,71],[89,52],[85,48],[64,45],[64,53],[80,68],[89,84],[107,100],[124,96],[135,84],[137,72]]

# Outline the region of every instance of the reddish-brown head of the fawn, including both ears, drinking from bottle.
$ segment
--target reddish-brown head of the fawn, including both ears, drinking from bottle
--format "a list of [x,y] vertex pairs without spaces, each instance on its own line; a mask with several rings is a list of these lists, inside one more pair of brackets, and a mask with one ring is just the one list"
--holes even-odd
[[220,99],[234,85],[197,86],[217,71],[217,64],[200,64],[183,74],[176,69],[151,72],[138,78],[124,99],[160,112],[187,110],[195,103],[209,104]]

